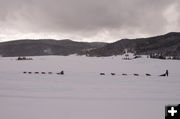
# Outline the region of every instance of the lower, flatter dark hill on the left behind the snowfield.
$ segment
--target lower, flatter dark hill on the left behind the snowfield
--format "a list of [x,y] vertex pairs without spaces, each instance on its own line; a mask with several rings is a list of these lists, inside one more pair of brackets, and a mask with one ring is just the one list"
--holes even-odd
[[42,55],[70,55],[85,49],[100,48],[106,43],[86,43],[72,40],[16,40],[0,43],[0,55],[12,56],[42,56]]

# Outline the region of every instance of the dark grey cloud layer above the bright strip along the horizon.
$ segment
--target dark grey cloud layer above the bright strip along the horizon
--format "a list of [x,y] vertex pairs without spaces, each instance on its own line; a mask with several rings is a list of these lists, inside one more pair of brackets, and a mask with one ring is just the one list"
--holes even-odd
[[0,0],[0,25],[22,32],[157,34],[165,32],[164,12],[172,4],[179,9],[178,0]]

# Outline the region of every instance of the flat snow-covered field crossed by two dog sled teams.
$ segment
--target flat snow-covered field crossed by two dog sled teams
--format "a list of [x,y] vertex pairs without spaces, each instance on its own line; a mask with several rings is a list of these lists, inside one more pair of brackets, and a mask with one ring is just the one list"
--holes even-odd
[[[33,59],[0,58],[0,119],[164,119],[165,105],[180,103],[177,60],[122,60],[121,56]],[[158,76],[166,69],[169,77]],[[61,70],[65,75],[55,74]],[[106,75],[100,76],[101,72]]]

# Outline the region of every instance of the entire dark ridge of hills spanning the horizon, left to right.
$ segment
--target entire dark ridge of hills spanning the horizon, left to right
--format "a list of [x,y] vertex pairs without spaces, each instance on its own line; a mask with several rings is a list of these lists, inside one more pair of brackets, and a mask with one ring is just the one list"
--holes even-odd
[[16,40],[0,43],[0,55],[10,56],[42,56],[42,55],[88,55],[112,56],[121,55],[127,50],[139,55],[160,53],[165,56],[180,56],[180,33],[170,32],[165,35],[122,39],[114,43],[75,42],[69,39],[53,40]]

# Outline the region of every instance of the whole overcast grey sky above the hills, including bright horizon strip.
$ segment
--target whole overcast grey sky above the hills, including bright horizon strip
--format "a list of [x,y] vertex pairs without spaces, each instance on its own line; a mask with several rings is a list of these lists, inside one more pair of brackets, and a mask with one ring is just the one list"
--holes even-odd
[[180,31],[180,0],[0,0],[0,41],[113,42]]

